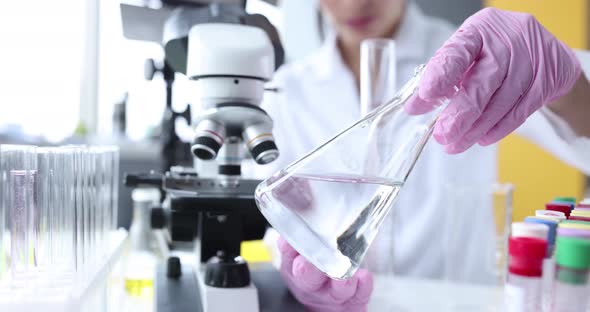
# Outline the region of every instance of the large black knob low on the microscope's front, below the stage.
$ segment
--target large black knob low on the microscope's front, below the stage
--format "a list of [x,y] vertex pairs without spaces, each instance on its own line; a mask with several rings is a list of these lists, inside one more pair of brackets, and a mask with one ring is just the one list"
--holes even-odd
[[218,288],[239,288],[250,285],[250,270],[240,257],[228,257],[218,251],[205,266],[205,284]]

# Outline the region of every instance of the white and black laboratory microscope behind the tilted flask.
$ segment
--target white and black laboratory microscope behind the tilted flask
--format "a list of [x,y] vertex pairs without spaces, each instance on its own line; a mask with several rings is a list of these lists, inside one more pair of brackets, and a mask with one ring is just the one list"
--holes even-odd
[[279,156],[273,121],[259,104],[283,62],[282,45],[264,16],[245,12],[245,1],[209,2],[121,4],[124,35],[161,43],[165,67],[194,80],[201,110],[191,120],[190,153],[217,167],[213,175],[172,166],[125,177],[130,187],[160,188],[152,227],[165,230],[172,254],[189,250],[194,259],[170,257],[158,270],[156,310],[302,311],[276,270],[253,272],[240,257],[242,241],[261,239],[268,226],[254,200],[261,181],[244,179],[241,167]]

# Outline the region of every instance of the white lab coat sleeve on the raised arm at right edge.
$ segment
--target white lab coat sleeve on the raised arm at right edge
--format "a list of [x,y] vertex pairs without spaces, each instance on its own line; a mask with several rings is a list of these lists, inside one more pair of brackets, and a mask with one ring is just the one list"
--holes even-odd
[[[584,74],[590,77],[590,52],[576,51],[576,55],[582,64]],[[517,133],[551,152],[563,162],[590,175],[590,138],[578,136],[549,108],[543,107],[531,115]]]

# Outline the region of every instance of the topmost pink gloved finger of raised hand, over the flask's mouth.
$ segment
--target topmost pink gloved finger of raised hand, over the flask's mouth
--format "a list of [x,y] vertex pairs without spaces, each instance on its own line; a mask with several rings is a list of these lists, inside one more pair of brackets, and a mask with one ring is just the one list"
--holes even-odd
[[466,21],[428,62],[418,94],[426,101],[449,97],[463,75],[478,58],[483,46],[481,34]]

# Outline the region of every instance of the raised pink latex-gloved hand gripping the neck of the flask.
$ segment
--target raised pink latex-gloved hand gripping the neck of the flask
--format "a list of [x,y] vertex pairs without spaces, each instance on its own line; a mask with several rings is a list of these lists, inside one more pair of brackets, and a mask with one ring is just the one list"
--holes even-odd
[[460,90],[434,138],[448,153],[490,145],[569,92],[581,69],[573,51],[529,14],[487,8],[468,18],[426,67],[410,113]]

